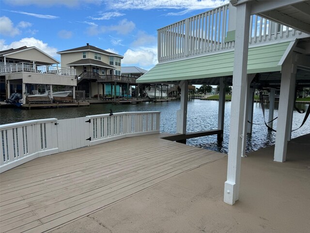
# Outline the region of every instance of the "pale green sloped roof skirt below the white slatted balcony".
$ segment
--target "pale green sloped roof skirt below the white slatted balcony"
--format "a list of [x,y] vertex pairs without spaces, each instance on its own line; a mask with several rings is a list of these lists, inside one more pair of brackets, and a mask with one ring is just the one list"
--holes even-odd
[[[248,49],[248,74],[280,71],[291,41]],[[172,82],[233,75],[234,51],[157,64],[137,83]]]

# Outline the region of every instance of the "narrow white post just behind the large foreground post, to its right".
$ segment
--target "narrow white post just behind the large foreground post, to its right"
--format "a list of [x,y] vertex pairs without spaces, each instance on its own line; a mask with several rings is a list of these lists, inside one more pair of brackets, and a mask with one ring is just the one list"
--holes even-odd
[[[242,151],[241,151],[241,157],[247,157],[246,155],[246,148],[247,148],[247,134],[248,134],[248,113],[249,113],[249,102],[252,102],[251,100],[251,91],[250,91],[250,84],[254,78],[253,74],[248,74],[247,76],[247,89],[246,89],[246,100],[245,100],[245,110],[244,110],[244,127],[243,127],[243,142],[242,142]],[[252,122],[252,121],[251,121]]]

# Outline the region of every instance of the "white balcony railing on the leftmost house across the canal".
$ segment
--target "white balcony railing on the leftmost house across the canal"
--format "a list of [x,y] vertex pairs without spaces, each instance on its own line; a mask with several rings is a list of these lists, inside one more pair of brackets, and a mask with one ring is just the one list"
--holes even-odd
[[35,72],[45,74],[69,75],[75,76],[76,69],[53,67],[32,63],[14,63],[0,66],[0,74],[8,74],[13,72]]

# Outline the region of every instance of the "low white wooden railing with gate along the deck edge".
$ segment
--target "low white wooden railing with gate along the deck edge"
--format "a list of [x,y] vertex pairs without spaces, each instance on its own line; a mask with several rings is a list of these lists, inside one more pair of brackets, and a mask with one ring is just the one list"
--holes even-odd
[[0,172],[40,156],[159,133],[159,118],[160,112],[125,112],[0,125]]

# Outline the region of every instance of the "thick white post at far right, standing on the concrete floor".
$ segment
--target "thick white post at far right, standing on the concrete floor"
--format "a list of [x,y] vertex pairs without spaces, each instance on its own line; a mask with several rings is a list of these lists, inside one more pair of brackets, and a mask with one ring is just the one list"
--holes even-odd
[[292,114],[292,107],[290,107],[290,98],[295,91],[296,80],[296,66],[293,64],[293,57],[291,54],[282,65],[281,87],[279,98],[279,111],[274,161],[284,162],[286,160],[288,128],[290,128],[290,115]]

